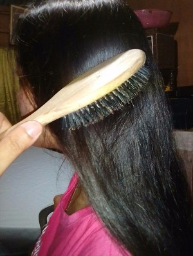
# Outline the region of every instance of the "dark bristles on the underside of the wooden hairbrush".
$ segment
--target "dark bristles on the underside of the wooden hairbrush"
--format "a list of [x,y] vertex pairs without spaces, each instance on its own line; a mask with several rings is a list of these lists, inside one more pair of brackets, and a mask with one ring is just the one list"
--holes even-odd
[[133,99],[142,92],[149,81],[149,75],[149,69],[143,66],[136,74],[109,94],[63,117],[62,127],[75,130],[80,126],[101,121],[116,110],[122,109],[125,104],[132,103]]

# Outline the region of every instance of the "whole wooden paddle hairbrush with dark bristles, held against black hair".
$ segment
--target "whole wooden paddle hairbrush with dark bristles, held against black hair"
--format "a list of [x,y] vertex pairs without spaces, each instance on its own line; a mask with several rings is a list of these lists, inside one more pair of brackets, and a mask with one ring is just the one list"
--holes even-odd
[[[30,120],[44,126],[60,117],[64,117],[66,128],[95,123],[132,101],[142,91],[149,79],[149,70],[144,63],[142,50],[115,55],[64,86],[41,108],[10,129]],[[0,138],[3,135],[5,133]]]

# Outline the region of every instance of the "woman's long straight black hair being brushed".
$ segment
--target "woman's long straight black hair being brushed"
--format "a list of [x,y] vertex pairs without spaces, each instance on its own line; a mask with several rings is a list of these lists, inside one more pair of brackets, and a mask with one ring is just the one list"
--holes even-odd
[[36,2],[19,19],[16,50],[37,107],[113,55],[133,48],[147,55],[151,77],[131,104],[77,130],[66,130],[63,118],[49,128],[118,243],[134,256],[190,255],[190,193],[140,21],[122,0]]

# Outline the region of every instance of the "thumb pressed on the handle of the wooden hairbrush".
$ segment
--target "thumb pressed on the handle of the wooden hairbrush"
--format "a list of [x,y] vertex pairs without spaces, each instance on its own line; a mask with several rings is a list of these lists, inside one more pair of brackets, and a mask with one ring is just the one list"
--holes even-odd
[[0,141],[0,175],[28,147],[36,141],[42,126],[36,121],[20,124]]

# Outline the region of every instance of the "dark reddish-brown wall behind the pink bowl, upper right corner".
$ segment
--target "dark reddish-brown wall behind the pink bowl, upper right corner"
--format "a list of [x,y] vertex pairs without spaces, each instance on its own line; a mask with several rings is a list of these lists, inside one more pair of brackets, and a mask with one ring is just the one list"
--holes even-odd
[[[193,1],[127,0],[133,10],[160,8],[172,12],[171,22],[178,22],[178,86],[193,85]],[[165,50],[167,54],[167,49]]]

